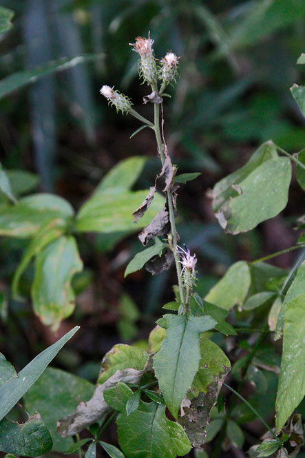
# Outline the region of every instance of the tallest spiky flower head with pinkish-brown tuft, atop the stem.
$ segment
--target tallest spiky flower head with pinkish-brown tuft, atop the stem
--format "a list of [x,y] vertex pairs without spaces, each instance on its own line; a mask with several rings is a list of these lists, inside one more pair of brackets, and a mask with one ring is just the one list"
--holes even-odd
[[140,61],[138,66],[139,75],[146,81],[147,84],[153,84],[157,79],[157,65],[154,56],[154,50],[151,48],[154,40],[143,37],[137,37],[136,43],[129,43],[134,46],[133,51],[138,52]]

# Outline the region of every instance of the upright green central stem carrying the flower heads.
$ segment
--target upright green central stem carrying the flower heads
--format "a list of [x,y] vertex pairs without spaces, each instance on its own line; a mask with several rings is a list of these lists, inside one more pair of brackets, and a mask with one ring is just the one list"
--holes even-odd
[[[156,91],[158,93],[157,85],[152,85],[151,87],[153,91]],[[158,145],[158,152],[160,153],[160,158],[161,158],[161,162],[163,165],[165,161],[165,153],[163,150],[161,132],[160,132],[160,105],[158,103],[154,103],[154,131],[156,135],[156,142]],[[177,253],[176,222],[175,222],[175,216],[173,214],[173,202],[171,200],[171,192],[169,190],[167,190],[167,204],[169,206],[169,222],[171,223],[173,256],[175,257],[175,263],[176,263],[180,300],[182,304],[185,304],[185,297],[184,297],[185,295],[183,291],[182,278],[181,278],[181,266],[179,262],[180,259],[179,259],[179,254]]]

